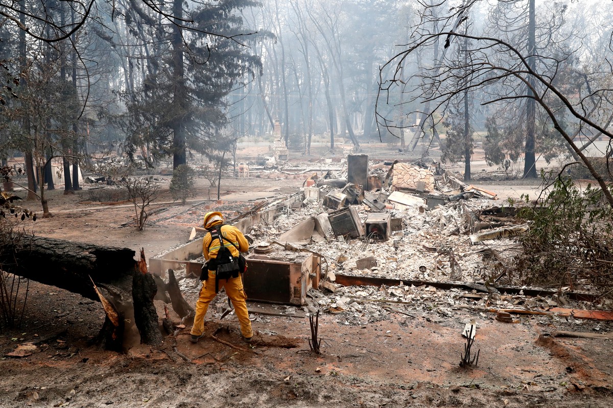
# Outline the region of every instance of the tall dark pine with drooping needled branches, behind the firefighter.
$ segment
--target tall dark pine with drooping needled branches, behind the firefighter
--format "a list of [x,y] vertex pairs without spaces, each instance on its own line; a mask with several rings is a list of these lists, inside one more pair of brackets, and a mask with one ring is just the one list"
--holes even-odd
[[[228,123],[227,95],[245,73],[258,75],[259,56],[240,11],[258,6],[251,0],[223,0],[215,5],[180,0],[172,4],[173,24],[159,24],[166,36],[156,67],[128,98],[129,134],[126,150],[132,157],[148,146],[151,157],[173,157],[173,168],[186,163],[186,150],[213,157],[231,143],[221,136]],[[180,21],[194,21],[190,28]]]

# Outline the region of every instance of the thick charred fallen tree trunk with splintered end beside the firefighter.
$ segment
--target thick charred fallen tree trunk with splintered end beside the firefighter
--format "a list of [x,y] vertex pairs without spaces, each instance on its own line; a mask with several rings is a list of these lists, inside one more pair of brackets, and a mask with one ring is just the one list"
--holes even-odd
[[125,351],[133,343],[129,343],[131,334],[129,327],[123,327],[124,319],[139,328],[141,343],[161,342],[153,305],[157,287],[151,274],[139,270],[133,250],[45,237],[6,239],[2,245],[5,248],[0,251],[0,265],[6,272],[98,302],[104,297],[109,307],[120,315],[117,324],[112,324],[105,307],[107,319],[99,335],[105,348],[118,350],[121,344]]

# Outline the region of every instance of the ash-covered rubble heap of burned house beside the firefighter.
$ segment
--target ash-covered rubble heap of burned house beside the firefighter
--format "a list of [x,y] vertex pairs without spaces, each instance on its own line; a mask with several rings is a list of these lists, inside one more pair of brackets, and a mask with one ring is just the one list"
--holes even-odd
[[[338,171],[308,173],[294,195],[229,220],[252,242],[249,300],[275,303],[281,315],[327,311],[350,325],[466,308],[503,322],[516,322],[509,311],[560,319],[587,307],[579,302],[588,295],[566,289],[512,287],[503,276],[492,283],[492,265],[528,229],[495,192],[435,165],[370,165],[357,156]],[[201,243],[188,245],[180,284],[195,293]]]

